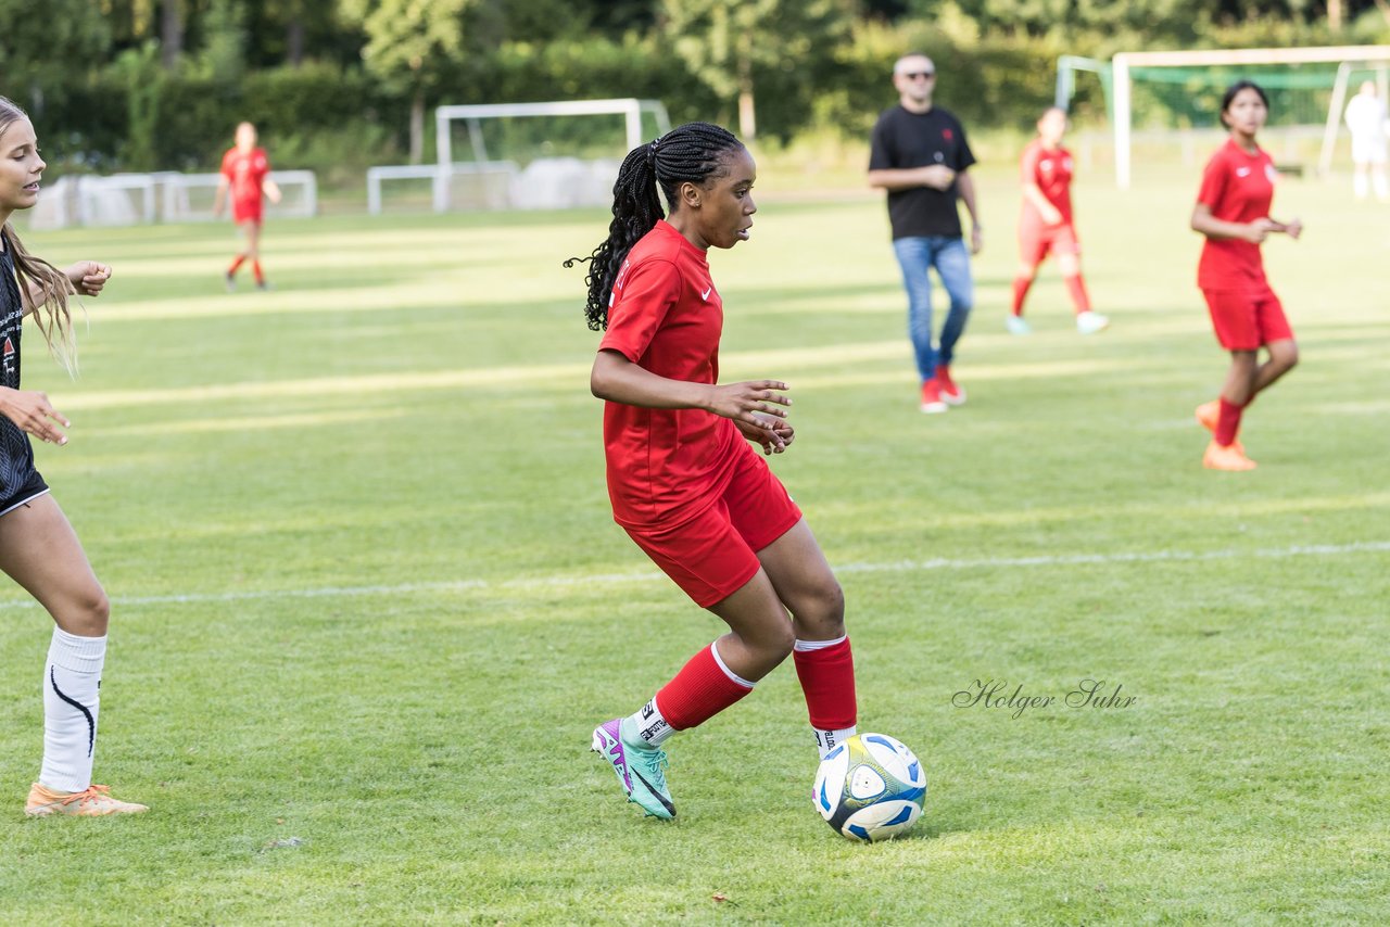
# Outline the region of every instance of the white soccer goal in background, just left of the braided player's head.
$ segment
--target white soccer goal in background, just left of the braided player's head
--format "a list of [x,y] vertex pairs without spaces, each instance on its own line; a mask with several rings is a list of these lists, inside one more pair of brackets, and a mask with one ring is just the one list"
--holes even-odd
[[623,157],[670,128],[657,100],[442,106],[435,208],[607,206]]

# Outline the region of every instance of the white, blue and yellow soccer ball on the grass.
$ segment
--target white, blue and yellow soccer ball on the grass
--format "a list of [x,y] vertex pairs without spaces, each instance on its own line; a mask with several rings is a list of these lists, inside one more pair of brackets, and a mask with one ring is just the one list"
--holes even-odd
[[812,788],[816,810],[837,834],[867,842],[912,830],[926,795],[922,763],[887,734],[856,734],[833,749]]

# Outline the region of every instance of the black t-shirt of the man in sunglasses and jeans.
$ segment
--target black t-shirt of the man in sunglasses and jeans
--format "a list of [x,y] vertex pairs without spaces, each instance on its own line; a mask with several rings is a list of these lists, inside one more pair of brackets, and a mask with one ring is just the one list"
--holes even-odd
[[[901,104],[884,110],[873,126],[870,171],[887,171],[944,164],[956,174],[974,164],[960,121],[940,107],[909,113]],[[956,185],[945,190],[916,186],[888,192],[888,220],[892,236],[960,236]]]

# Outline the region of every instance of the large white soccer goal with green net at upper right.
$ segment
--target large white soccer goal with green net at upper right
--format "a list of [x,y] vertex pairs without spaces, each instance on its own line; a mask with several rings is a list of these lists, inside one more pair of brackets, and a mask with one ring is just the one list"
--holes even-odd
[[1280,170],[1325,170],[1332,111],[1340,118],[1334,99],[1340,71],[1346,65],[1348,74],[1357,74],[1358,67],[1387,61],[1390,46],[1131,51],[1109,63],[1063,56],[1058,60],[1056,103],[1063,108],[1069,104],[1079,72],[1099,76],[1111,120],[1115,182],[1129,188],[1136,151],[1150,161],[1176,146],[1190,164],[1220,145],[1226,135],[1220,96],[1234,81],[1251,79],[1270,97],[1261,139]]

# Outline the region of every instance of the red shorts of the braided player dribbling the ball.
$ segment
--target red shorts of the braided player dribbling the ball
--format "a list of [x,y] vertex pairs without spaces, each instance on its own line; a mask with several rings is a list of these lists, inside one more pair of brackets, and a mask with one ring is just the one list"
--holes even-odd
[[801,521],[787,495],[751,445],[744,446],[728,489],[714,504],[677,525],[626,528],[662,573],[702,609],[727,599],[752,580],[758,552]]

